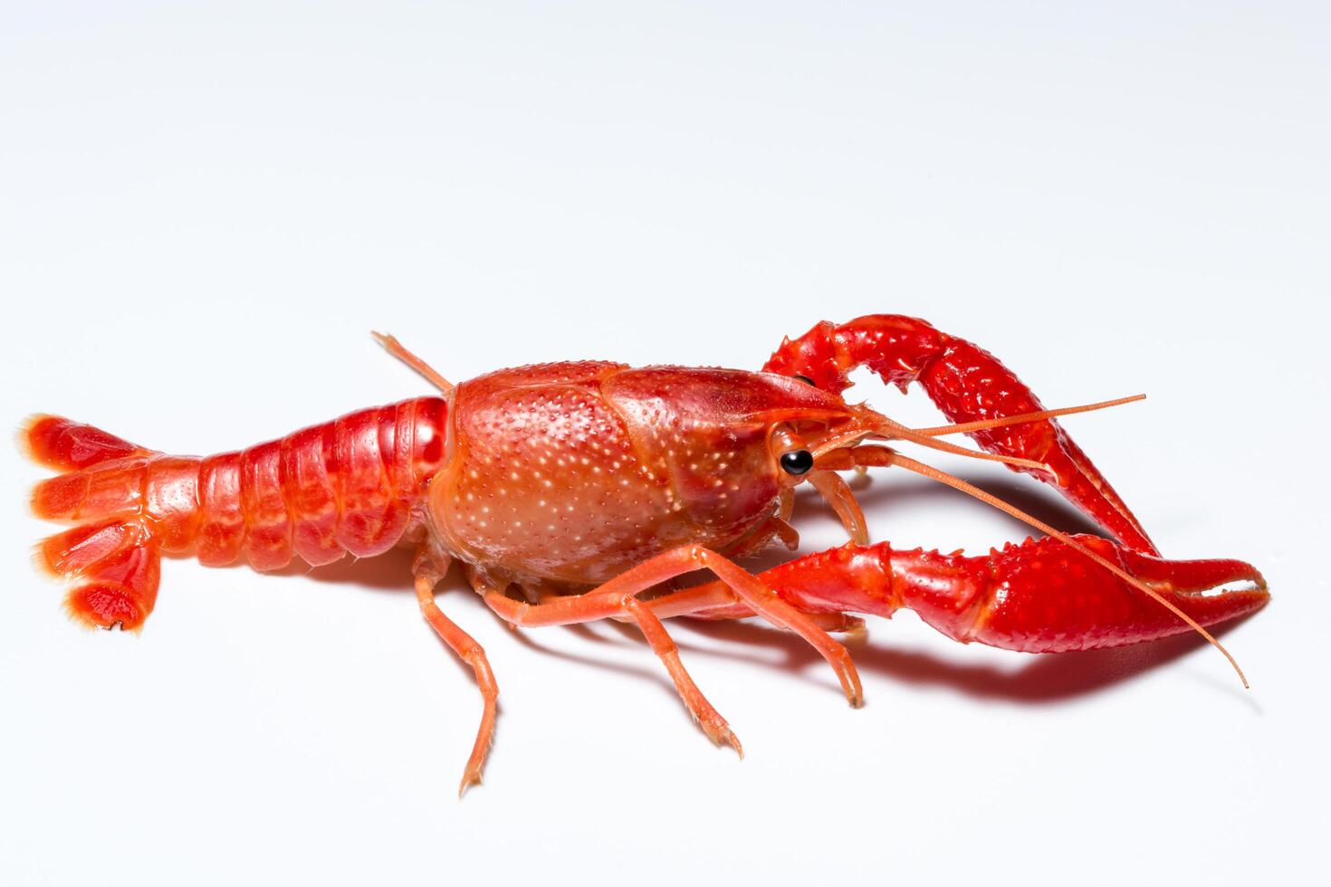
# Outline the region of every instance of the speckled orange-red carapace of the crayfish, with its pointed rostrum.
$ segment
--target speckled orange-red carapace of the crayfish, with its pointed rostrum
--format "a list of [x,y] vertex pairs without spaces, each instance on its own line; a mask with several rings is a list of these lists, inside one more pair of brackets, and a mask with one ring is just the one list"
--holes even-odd
[[676,545],[724,551],[776,508],[776,423],[835,395],[739,370],[560,363],[461,384],[430,513],[453,553],[511,578],[606,581]]

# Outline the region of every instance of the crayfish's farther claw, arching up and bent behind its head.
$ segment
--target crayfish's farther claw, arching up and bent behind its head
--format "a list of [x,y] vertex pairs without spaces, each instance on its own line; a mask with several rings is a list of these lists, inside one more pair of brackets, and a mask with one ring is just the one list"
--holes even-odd
[[[841,326],[823,322],[800,338],[783,342],[763,370],[803,375],[820,388],[841,394],[851,386],[851,371],[860,366],[902,391],[918,382],[948,419],[957,423],[1045,408],[1012,370],[984,348],[897,314],[870,314]],[[1133,512],[1057,420],[1002,426],[972,432],[970,438],[988,452],[1044,463],[1049,471],[1012,468],[1057,487],[1125,545],[1159,553]]]

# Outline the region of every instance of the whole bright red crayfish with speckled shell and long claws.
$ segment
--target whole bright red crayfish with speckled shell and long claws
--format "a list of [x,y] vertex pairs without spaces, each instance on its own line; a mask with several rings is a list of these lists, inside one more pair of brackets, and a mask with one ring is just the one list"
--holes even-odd
[[[23,432],[29,453],[65,472],[37,484],[33,511],[73,524],[39,545],[39,560],[75,582],[65,601],[73,618],[138,629],[153,609],[162,555],[210,567],[245,556],[270,570],[297,556],[319,565],[415,545],[421,612],[475,670],[484,699],[461,793],[480,781],[498,689],[484,652],[435,604],[454,560],[514,626],[636,624],[701,729],[736,750],[663,620],[759,616],[813,645],[857,705],[855,664],[829,634],[861,626],[855,613],[906,606],[958,641],[1033,653],[1186,630],[1219,648],[1203,626],[1268,597],[1260,573],[1242,561],[1163,560],[1055,420],[1121,402],[1047,411],[993,355],[924,320],[819,323],[783,342],[760,372],[576,362],[458,386],[391,336],[379,339],[442,396],[204,457],[33,418]],[[918,382],[954,424],[908,428],[847,403],[848,374],[861,366],[902,388]],[[985,452],[940,440],[956,432]],[[886,445],[896,440],[1006,463],[1055,487],[1114,541],[1063,535]],[[884,465],[964,489],[1046,536],[974,557],[869,544],[837,472]],[[759,574],[736,565],[772,544],[796,548],[788,520],[804,481],[852,541]],[[671,581],[699,569],[719,581]]]

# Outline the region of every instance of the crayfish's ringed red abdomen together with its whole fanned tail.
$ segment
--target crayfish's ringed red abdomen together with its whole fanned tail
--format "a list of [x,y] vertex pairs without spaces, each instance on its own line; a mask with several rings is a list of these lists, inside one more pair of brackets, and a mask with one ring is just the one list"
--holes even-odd
[[79,582],[69,614],[137,630],[157,598],[162,553],[209,567],[242,553],[256,569],[379,555],[411,525],[443,463],[447,406],[418,398],[362,410],[216,456],[168,456],[92,426],[35,416],[20,442],[67,473],[39,483],[32,511],[73,528],[37,545],[49,573]]

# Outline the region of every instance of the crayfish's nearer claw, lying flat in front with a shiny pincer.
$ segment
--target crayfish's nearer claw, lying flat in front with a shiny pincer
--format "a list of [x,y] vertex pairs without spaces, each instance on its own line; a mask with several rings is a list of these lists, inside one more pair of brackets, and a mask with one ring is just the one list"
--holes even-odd
[[[1202,625],[1247,616],[1268,600],[1262,574],[1236,560],[1165,560],[1074,536],[1147,582]],[[892,616],[900,608],[948,637],[1025,653],[1089,650],[1189,632],[1158,602],[1055,539],[988,555],[942,555],[888,543],[844,545],[761,573],[811,612]],[[1238,588],[1226,588],[1238,585]]]

